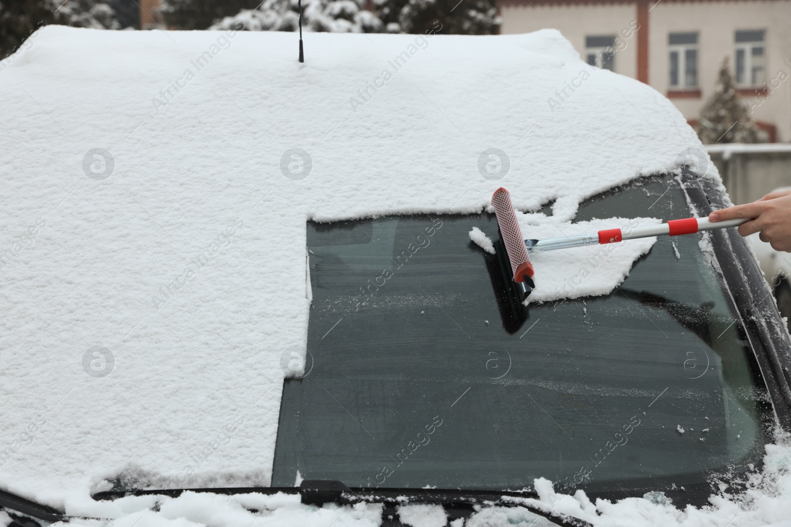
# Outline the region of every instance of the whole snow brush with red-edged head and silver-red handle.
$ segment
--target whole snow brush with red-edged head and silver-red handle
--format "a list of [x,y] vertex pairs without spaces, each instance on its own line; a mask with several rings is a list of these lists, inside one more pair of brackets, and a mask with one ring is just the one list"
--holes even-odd
[[492,205],[494,206],[494,213],[497,215],[500,237],[505,244],[505,250],[511,263],[513,281],[516,282],[517,288],[520,289],[523,299],[536,288],[536,284],[532,280],[533,266],[530,264],[528,256],[534,250],[558,250],[586,245],[604,245],[605,243],[618,243],[626,239],[648,238],[649,236],[694,234],[695,232],[736,227],[749,221],[747,218],[740,218],[712,223],[707,218],[684,218],[683,220],[669,220],[664,224],[630,228],[626,232],[619,228],[613,228],[570,236],[556,236],[554,238],[524,239],[517,221],[517,214],[513,211],[508,190],[502,187],[495,190],[494,194],[492,194]]

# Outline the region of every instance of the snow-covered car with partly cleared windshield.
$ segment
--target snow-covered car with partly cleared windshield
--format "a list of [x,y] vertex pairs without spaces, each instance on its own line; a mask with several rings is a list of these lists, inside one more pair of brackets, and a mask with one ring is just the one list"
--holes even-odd
[[526,305],[498,263],[499,186],[531,238],[729,205],[649,86],[554,31],[31,39],[0,521],[787,519],[789,335],[734,229],[535,253]]

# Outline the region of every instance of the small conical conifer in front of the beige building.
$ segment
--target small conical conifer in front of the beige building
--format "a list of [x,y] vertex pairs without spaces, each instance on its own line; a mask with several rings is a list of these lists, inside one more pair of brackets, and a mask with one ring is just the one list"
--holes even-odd
[[761,133],[750,119],[747,105],[741,100],[728,66],[722,62],[717,87],[700,113],[696,126],[703,143],[757,143]]

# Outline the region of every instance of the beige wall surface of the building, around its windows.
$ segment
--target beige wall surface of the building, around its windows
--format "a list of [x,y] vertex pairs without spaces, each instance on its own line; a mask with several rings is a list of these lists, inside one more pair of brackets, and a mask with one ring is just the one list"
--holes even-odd
[[[637,3],[560,4],[504,2],[502,33],[556,28],[584,58],[585,36],[616,35],[637,17]],[[733,68],[737,30],[766,31],[765,96],[745,97],[752,105],[751,118],[777,127],[776,141],[791,141],[791,1],[671,2],[664,0],[649,12],[649,84],[668,95],[668,33],[698,32],[698,87],[700,96],[671,99],[687,119],[698,119],[712,95],[723,58]],[[637,36],[615,53],[615,72],[637,77]],[[785,62],[788,61],[788,62]],[[778,77],[778,73],[783,72]],[[781,81],[784,76],[785,81]],[[773,82],[774,81],[774,82]],[[753,94],[755,92],[752,92]],[[747,92],[742,92],[746,96]]]

